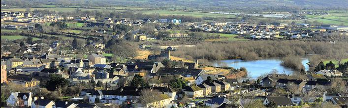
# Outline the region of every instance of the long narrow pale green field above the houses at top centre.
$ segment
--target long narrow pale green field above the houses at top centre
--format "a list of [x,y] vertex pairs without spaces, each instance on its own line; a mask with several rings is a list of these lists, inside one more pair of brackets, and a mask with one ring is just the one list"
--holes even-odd
[[236,18],[235,15],[225,15],[225,14],[214,14],[214,13],[204,13],[204,12],[185,12],[185,11],[169,11],[169,10],[149,10],[149,11],[141,11],[139,13],[143,14],[159,14],[159,15],[184,15],[184,16],[193,16],[200,18]]

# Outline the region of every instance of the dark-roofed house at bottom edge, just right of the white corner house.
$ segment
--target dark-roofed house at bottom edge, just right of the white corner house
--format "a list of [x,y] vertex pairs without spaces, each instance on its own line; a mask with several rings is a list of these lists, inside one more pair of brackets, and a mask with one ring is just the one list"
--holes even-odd
[[48,99],[37,99],[32,102],[31,108],[55,108],[55,102],[48,100]]

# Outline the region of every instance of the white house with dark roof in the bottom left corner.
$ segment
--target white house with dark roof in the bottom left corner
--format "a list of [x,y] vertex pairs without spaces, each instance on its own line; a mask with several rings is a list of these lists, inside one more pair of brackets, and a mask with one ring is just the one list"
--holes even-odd
[[6,100],[7,107],[30,107],[32,105],[32,92],[11,92]]

